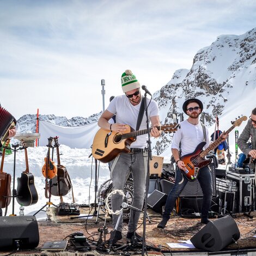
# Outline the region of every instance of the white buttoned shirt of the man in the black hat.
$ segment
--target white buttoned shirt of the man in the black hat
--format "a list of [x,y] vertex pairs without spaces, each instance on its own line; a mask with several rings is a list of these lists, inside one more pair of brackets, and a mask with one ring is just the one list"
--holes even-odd
[[[207,127],[206,130],[206,145],[208,148],[210,144],[209,131]],[[172,149],[180,149],[181,142],[181,156],[186,154],[191,154],[196,149],[197,145],[204,142],[204,131],[202,124],[199,122],[197,125],[188,123],[187,120],[180,123],[180,129],[178,129],[173,136]]]

